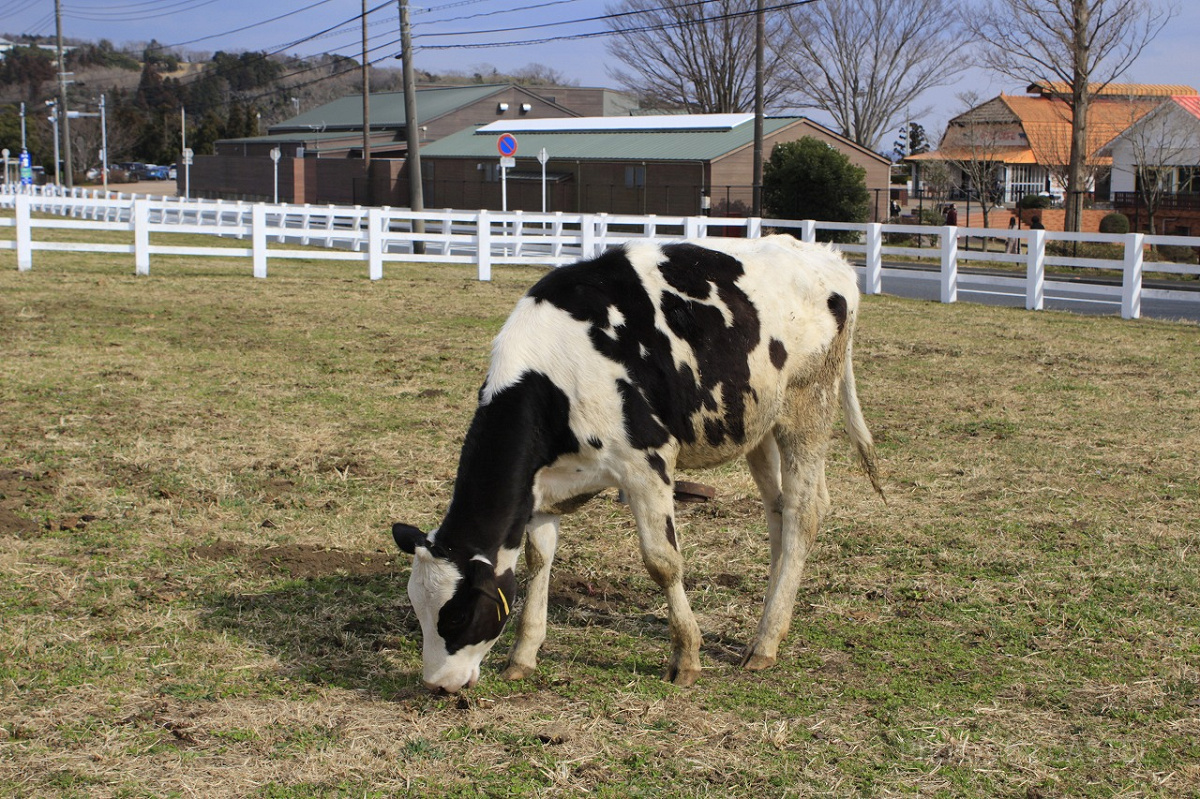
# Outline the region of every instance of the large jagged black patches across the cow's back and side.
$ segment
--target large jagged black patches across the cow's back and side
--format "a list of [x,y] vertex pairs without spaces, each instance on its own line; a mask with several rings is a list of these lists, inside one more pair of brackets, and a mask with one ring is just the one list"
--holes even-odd
[[[610,250],[550,272],[529,296],[589,324],[596,352],[625,368],[629,380],[619,382],[618,390],[634,446],[656,449],[671,437],[695,444],[695,419],[702,410],[709,443],[740,443],[746,402],[755,398],[749,355],[761,338],[757,308],[737,286],[742,263],[679,244],[662,247],[659,270],[671,290],[652,298],[625,252]],[[670,337],[655,325],[656,305],[670,332],[695,352],[698,371],[676,365]],[[611,308],[624,320],[616,330],[610,326]]]

